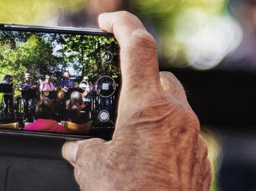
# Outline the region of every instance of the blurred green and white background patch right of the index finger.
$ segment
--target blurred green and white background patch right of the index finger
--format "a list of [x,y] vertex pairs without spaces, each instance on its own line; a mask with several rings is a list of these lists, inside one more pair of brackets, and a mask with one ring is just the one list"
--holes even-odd
[[136,14],[158,31],[164,68],[212,69],[237,49],[242,29],[227,12],[226,0],[134,1]]

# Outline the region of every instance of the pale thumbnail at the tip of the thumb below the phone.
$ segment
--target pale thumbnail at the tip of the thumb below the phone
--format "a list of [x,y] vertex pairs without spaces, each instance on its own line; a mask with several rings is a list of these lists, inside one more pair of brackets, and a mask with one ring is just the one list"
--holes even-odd
[[69,140],[63,145],[62,156],[71,163],[77,162],[78,142]]

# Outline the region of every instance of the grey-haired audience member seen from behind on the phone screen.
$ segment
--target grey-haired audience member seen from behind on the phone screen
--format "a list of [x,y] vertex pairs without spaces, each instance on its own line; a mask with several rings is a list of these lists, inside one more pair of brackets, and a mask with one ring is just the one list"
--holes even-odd
[[79,92],[71,94],[71,100],[67,101],[68,112],[64,120],[82,124],[90,120],[89,107],[85,106],[82,100],[82,95]]

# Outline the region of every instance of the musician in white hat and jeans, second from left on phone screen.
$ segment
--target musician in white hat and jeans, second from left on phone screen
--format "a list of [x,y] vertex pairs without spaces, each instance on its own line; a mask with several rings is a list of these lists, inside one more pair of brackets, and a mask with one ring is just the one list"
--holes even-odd
[[22,99],[24,103],[24,108],[25,108],[25,116],[24,116],[24,122],[28,122],[28,102],[30,105],[30,109],[32,112],[32,117],[35,119],[35,105],[34,105],[34,93],[35,93],[35,88],[36,85],[34,82],[31,82],[30,75],[29,73],[26,73],[25,77],[26,79],[25,82],[19,86],[19,90],[22,91]]

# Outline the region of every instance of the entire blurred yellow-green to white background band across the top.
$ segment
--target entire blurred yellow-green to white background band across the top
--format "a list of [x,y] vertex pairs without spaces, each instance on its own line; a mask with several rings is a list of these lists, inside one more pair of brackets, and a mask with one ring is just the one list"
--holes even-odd
[[242,32],[227,0],[1,1],[0,22],[98,28],[102,12],[137,15],[158,44],[161,68],[214,68],[239,45]]

